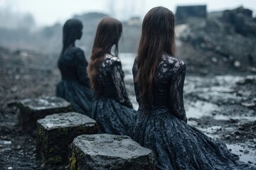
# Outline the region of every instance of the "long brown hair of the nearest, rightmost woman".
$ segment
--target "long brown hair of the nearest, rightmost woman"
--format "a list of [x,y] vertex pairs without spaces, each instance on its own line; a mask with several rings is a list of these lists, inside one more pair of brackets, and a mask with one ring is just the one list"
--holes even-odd
[[137,54],[139,99],[143,105],[153,103],[152,85],[163,52],[175,55],[174,13],[158,6],[146,13],[142,23],[142,35]]

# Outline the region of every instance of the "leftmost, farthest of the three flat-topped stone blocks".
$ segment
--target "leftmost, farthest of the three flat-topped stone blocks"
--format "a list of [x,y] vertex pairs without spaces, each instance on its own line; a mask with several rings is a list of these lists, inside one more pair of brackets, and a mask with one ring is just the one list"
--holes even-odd
[[36,120],[45,118],[46,115],[73,111],[70,103],[55,96],[27,98],[16,103],[16,106],[20,109],[18,123],[27,132],[36,130]]

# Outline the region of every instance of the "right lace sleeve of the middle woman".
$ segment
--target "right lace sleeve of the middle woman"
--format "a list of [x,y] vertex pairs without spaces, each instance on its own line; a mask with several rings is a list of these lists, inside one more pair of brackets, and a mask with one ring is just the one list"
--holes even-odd
[[127,91],[124,86],[124,72],[122,71],[121,62],[115,62],[111,74],[114,86],[117,89],[118,101],[122,103],[122,105],[132,108],[132,103],[129,101]]

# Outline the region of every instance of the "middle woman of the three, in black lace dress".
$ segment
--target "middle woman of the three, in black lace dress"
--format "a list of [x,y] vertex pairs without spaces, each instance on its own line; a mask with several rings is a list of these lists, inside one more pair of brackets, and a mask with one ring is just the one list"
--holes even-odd
[[[100,131],[127,135],[135,111],[124,86],[124,72],[118,56],[118,42],[122,23],[111,17],[102,18],[97,26],[89,64],[89,77],[97,101],[92,115],[100,124]],[[115,46],[114,55],[111,53]]]

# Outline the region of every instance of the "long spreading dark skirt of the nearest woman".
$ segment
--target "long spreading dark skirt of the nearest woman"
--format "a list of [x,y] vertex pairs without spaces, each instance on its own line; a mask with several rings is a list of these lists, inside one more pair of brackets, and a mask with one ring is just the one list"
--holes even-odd
[[252,169],[225,144],[174,117],[167,108],[139,110],[130,135],[154,152],[159,169]]

